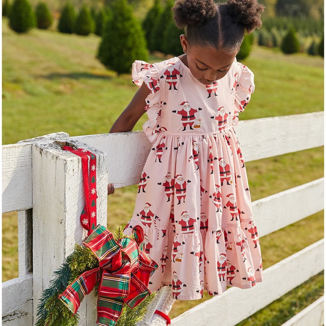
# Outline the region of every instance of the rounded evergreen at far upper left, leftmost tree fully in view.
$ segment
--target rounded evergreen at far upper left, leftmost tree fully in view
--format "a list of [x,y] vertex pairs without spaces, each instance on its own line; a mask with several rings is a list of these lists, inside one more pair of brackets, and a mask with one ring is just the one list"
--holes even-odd
[[28,0],[14,0],[10,15],[9,27],[16,33],[26,33],[35,26],[35,15]]

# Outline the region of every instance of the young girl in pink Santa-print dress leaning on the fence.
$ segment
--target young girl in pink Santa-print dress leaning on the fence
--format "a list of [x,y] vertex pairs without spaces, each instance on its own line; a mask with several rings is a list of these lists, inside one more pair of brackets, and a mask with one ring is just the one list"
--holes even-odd
[[185,54],[132,64],[132,82],[140,88],[110,132],[132,130],[145,109],[143,129],[152,150],[125,233],[140,225],[145,251],[160,265],[150,290],[170,287],[172,298],[160,315],[168,315],[175,299],[197,300],[204,290],[220,295],[227,286],[247,289],[263,281],[233,128],[255,89],[253,72],[235,56],[244,31],[261,27],[263,10],[256,0],[176,0],[173,19],[185,28]]

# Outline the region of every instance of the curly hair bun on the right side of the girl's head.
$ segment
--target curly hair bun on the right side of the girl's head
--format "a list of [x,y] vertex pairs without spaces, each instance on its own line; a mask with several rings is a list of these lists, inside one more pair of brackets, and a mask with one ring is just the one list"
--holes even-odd
[[265,6],[257,0],[228,0],[227,7],[233,21],[243,24],[248,34],[262,26],[259,11],[264,11]]

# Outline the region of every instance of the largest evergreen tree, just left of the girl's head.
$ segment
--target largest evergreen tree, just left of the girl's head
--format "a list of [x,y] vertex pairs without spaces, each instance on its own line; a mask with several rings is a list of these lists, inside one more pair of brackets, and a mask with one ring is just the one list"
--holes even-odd
[[148,60],[144,32],[126,0],[113,0],[111,10],[96,57],[118,74],[130,73],[135,60]]

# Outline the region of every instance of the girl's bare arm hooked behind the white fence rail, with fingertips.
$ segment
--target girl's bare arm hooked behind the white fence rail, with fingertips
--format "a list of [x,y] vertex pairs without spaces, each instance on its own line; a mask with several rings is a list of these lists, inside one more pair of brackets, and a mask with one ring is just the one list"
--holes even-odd
[[[109,133],[132,131],[138,120],[145,113],[146,97],[150,94],[149,88],[143,82],[128,106],[121,112],[112,125]],[[114,185],[108,184],[108,195],[114,193]]]

